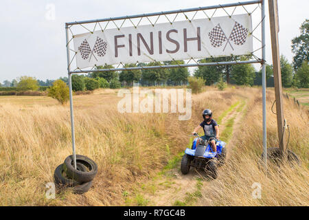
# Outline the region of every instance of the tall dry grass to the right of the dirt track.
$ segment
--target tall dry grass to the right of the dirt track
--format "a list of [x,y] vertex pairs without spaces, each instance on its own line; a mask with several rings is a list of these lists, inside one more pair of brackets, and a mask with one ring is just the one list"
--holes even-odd
[[[262,96],[251,95],[247,114],[231,144],[233,150],[219,177],[203,188],[198,206],[308,206],[308,109],[299,109],[292,100],[284,100],[284,115],[290,127],[288,149],[297,153],[301,166],[275,166],[268,163],[267,175],[260,161],[262,153]],[[273,89],[267,91],[267,144],[278,147],[277,118],[271,112]],[[275,111],[275,109],[274,109]],[[286,131],[287,132],[287,131]],[[286,136],[288,137],[288,135]],[[261,198],[253,190],[261,186]]]

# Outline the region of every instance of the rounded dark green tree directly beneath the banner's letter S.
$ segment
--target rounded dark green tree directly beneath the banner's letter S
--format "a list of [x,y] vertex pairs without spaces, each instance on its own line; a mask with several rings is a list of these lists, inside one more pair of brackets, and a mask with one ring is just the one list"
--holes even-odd
[[[166,63],[168,65],[178,65],[184,64],[184,61],[170,61]],[[181,83],[187,83],[187,78],[190,76],[190,73],[187,67],[171,68],[169,74],[169,80],[176,85],[181,85]]]

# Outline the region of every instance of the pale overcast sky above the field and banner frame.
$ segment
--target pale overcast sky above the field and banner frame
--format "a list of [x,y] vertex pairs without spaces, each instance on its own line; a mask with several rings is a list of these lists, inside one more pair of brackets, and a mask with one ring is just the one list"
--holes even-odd
[[[65,22],[233,2],[238,0],[1,0],[0,83],[19,76],[40,80],[67,76]],[[279,50],[290,62],[290,41],[299,35],[301,23],[308,19],[308,8],[308,0],[279,0]],[[266,18],[266,61],[272,63],[268,3]]]

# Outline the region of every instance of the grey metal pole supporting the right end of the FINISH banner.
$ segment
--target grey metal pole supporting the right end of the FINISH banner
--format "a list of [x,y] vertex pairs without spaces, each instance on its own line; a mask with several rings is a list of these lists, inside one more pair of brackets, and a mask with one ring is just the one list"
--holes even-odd
[[265,43],[265,1],[262,1],[262,106],[263,106],[263,155],[265,170],[267,170],[267,142],[266,142],[266,43]]

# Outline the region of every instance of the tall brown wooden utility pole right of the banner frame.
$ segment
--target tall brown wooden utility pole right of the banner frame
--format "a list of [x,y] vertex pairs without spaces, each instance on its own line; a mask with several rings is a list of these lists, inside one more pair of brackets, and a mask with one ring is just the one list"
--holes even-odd
[[271,50],[273,54],[273,78],[275,83],[275,98],[277,109],[277,130],[279,137],[279,148],[281,149],[282,157],[286,158],[286,138],[285,131],[286,123],[284,121],[283,98],[282,98],[282,80],[279,55],[279,19],[277,0],[268,0],[269,21],[271,23]]

